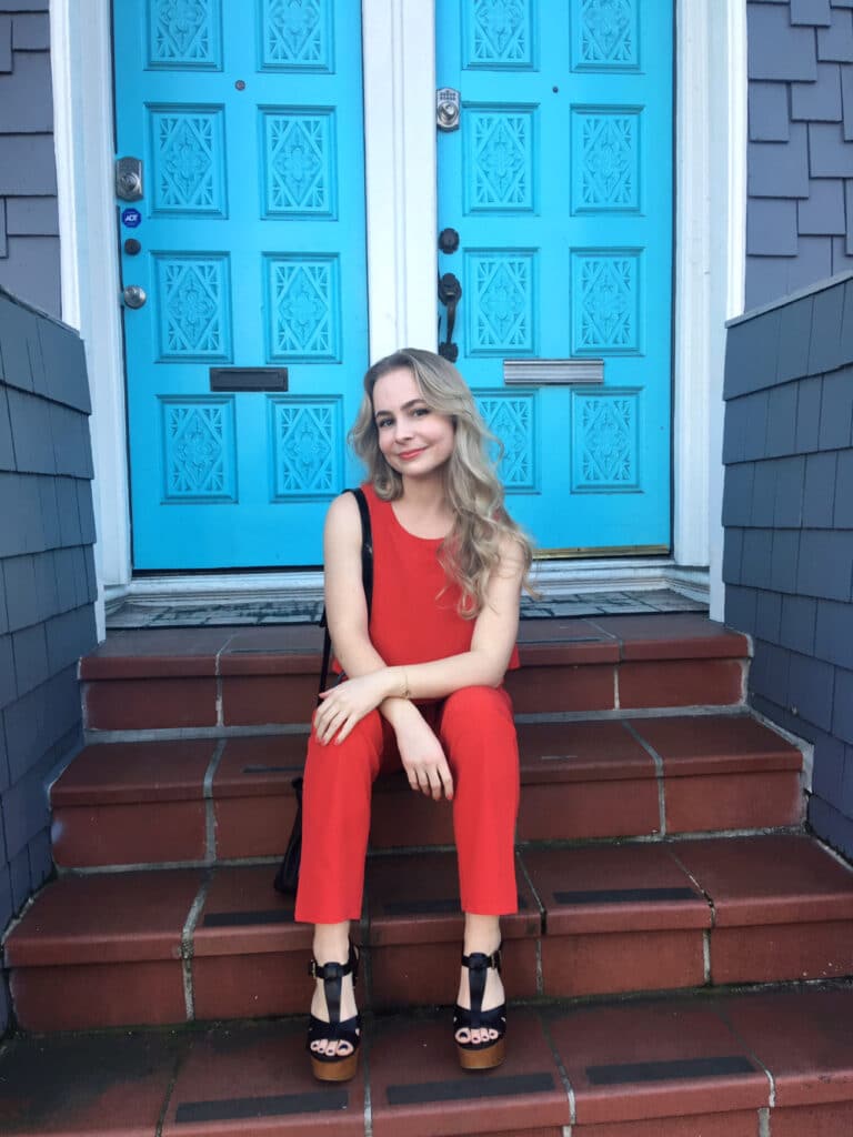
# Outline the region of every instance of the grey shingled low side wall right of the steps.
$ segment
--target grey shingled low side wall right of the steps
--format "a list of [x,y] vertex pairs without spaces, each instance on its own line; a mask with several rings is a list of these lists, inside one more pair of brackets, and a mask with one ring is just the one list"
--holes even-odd
[[811,825],[853,856],[853,277],[734,323],[724,398],[726,620],[751,704],[814,744]]

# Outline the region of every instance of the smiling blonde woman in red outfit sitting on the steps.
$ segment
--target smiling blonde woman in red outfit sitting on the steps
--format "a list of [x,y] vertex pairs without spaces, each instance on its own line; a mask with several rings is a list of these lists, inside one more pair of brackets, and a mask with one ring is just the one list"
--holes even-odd
[[362,911],[370,797],[399,763],[415,792],[454,803],[465,914],[454,1018],[459,1061],[504,1057],[499,916],[516,910],[519,757],[504,673],[530,546],[503,507],[490,441],[462,375],[405,349],[370,368],[350,441],[364,460],[370,624],[351,493],[324,534],[326,616],[347,677],[322,694],[305,769],[296,919],[315,924],[308,1049],[321,1080],[353,1077],[361,1041],[349,922]]

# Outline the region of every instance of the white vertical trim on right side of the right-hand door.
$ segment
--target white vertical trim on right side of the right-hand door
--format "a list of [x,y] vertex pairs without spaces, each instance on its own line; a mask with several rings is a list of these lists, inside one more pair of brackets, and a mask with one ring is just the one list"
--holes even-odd
[[710,565],[720,620],[726,318],[743,308],[746,248],[744,5],[678,0],[676,31],[673,547],[679,564]]

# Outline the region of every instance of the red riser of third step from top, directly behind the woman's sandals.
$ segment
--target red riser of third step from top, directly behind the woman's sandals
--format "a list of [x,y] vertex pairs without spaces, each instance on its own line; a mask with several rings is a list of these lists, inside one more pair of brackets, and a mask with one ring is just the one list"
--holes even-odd
[[[511,999],[840,979],[853,974],[851,932],[850,921],[715,929],[710,932],[710,984],[699,929],[505,940],[504,977]],[[307,958],[307,951],[197,956],[190,964],[194,1018],[304,1014],[313,989]],[[359,984],[362,1009],[449,1004],[458,958],[455,941],[370,948],[371,980]],[[188,1019],[180,960],[17,968],[11,993],[18,1023],[28,1031]]]

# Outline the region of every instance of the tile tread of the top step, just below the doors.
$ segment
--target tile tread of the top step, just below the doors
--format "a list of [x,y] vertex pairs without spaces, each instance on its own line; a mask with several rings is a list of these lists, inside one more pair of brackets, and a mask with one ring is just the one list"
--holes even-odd
[[[314,624],[267,628],[111,631],[81,661],[81,679],[142,679],[315,672],[322,632]],[[522,620],[523,664],[745,658],[739,632],[697,613]]]

